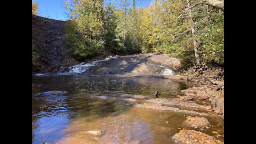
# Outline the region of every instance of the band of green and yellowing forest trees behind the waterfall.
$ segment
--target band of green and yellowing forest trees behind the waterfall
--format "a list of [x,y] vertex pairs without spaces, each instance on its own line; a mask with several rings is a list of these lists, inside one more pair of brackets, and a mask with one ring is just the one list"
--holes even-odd
[[218,0],[67,0],[66,42],[79,61],[104,55],[169,53],[183,67],[224,64],[224,4]]

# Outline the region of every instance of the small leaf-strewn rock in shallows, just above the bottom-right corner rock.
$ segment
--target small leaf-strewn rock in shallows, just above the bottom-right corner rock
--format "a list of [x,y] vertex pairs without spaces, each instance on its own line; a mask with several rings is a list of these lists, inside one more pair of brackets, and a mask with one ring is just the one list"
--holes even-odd
[[207,118],[205,117],[191,117],[188,116],[186,121],[184,121],[182,124],[182,126],[188,126],[188,127],[205,127],[210,125],[209,121]]

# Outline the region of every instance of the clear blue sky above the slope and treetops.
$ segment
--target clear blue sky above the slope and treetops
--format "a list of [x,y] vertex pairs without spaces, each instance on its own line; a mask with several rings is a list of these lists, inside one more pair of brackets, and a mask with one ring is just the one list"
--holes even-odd
[[[63,7],[63,3],[66,0],[34,0],[38,3],[38,12],[39,16],[45,17],[45,18],[51,18],[55,20],[68,20],[68,17],[66,15],[67,9]],[[112,3],[115,0],[110,0]],[[118,0],[116,0],[118,1]],[[150,0],[153,1],[153,0]],[[105,0],[106,3],[109,2],[109,0]],[[132,0],[130,0],[130,3],[132,5]],[[144,4],[145,7],[149,7],[149,2],[145,2],[142,4],[142,2],[135,1],[136,6],[140,7]]]

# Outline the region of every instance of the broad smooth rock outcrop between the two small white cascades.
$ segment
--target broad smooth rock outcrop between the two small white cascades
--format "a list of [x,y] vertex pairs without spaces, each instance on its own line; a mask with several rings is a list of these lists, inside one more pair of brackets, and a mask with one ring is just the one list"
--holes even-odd
[[[157,56],[156,56],[157,55]],[[111,57],[102,60],[100,65],[91,67],[86,73],[96,74],[130,74],[130,75],[173,75],[172,62],[176,59],[166,57],[167,62],[158,62],[155,56],[161,58],[166,54],[137,54]],[[175,77],[175,76],[174,76]],[[184,77],[184,76],[183,76]]]

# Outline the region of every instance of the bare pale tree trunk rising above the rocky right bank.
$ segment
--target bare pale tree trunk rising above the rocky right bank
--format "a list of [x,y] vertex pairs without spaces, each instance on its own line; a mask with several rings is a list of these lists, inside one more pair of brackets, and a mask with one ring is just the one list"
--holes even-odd
[[[188,7],[190,7],[189,0],[187,0],[187,2],[188,2]],[[190,29],[191,29],[192,35],[195,36],[195,28],[193,27],[193,23],[194,22],[193,22],[193,17],[191,15],[191,9],[188,10],[188,14],[189,14],[190,21],[192,21],[192,25],[191,25]],[[196,38],[193,39],[193,43],[194,43],[194,51],[195,51],[196,64],[200,65],[200,58],[199,58],[199,54],[198,54],[198,50],[197,50],[198,42],[197,42]]]

